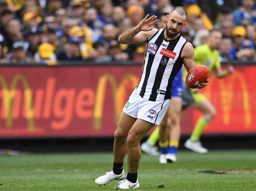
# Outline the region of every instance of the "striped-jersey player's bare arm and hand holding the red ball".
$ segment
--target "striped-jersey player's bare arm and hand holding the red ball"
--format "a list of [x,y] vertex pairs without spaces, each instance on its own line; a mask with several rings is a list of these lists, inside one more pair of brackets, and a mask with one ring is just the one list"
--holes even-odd
[[[187,42],[182,50],[181,58],[183,59],[184,66],[186,67],[187,72],[195,67],[195,51],[191,43]],[[208,85],[209,79],[206,83],[202,83],[197,88],[202,89]]]

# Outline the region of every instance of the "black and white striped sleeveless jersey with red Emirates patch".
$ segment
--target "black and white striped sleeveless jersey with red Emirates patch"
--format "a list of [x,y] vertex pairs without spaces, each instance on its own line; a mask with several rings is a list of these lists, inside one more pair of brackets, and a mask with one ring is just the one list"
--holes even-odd
[[139,95],[149,101],[171,98],[173,78],[181,69],[181,52],[187,40],[182,35],[166,40],[165,28],[159,29],[147,45],[143,73],[137,86]]

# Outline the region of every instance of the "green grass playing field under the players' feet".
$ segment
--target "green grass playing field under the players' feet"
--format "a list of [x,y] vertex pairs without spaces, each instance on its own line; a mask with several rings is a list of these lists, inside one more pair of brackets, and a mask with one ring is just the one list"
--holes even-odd
[[[0,191],[113,190],[117,181],[106,186],[94,182],[112,164],[112,153],[0,155]],[[139,191],[252,191],[256,190],[256,151],[206,155],[180,151],[174,164],[159,164],[157,156],[143,154],[138,179],[140,187],[134,190]]]

